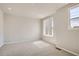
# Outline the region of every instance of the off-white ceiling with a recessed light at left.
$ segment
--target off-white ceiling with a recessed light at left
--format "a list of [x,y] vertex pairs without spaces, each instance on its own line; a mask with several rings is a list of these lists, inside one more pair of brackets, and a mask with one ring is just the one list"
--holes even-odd
[[33,19],[41,19],[53,14],[57,9],[65,6],[65,3],[2,3],[0,7],[6,14],[23,16]]

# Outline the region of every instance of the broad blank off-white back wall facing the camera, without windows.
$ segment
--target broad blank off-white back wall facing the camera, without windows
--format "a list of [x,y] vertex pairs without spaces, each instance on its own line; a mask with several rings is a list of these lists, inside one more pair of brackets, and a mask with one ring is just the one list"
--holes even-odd
[[40,20],[5,14],[5,43],[40,39]]

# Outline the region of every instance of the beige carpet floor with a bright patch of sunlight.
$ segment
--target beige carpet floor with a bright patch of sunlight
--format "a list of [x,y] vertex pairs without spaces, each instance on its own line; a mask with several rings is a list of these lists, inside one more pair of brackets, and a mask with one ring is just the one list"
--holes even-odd
[[63,50],[57,50],[54,45],[44,41],[7,44],[0,48],[1,56],[73,56]]

